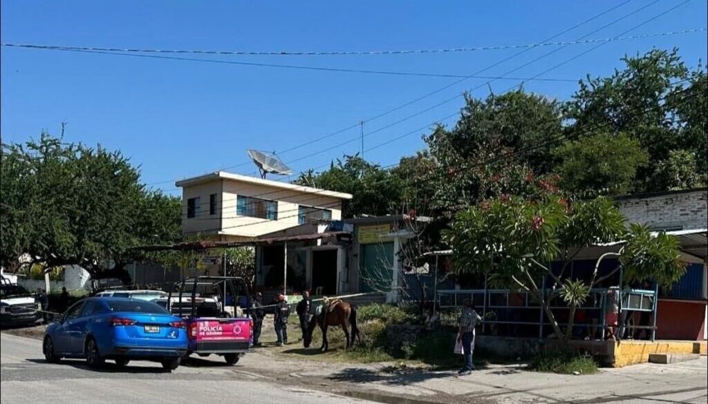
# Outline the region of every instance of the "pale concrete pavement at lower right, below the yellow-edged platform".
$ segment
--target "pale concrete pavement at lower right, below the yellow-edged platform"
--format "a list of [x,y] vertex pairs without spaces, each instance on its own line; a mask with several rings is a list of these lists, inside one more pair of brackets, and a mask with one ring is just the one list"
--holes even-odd
[[357,366],[331,373],[324,368],[304,371],[300,376],[355,383],[369,392],[426,401],[437,401],[440,395],[491,403],[706,403],[708,398],[708,362],[704,356],[679,364],[602,369],[586,376],[535,373],[519,365],[492,365],[460,378],[450,371]]

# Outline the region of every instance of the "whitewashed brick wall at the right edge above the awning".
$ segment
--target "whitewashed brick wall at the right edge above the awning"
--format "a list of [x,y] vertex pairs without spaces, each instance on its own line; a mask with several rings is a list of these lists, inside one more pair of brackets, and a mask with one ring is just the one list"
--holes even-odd
[[708,190],[687,190],[617,198],[629,223],[653,229],[705,229],[708,223]]

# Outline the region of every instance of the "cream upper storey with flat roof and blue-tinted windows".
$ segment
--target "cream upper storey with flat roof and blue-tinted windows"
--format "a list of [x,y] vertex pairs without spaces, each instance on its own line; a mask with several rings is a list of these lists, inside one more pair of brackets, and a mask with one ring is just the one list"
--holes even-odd
[[316,220],[341,219],[352,195],[217,171],[176,182],[182,232],[215,241],[251,241]]

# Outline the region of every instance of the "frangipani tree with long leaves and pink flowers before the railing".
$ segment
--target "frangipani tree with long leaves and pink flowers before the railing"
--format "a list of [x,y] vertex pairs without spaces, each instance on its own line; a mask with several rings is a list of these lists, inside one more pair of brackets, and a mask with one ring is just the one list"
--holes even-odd
[[[601,257],[589,280],[567,277],[570,262],[582,248],[625,241],[622,253],[609,255],[618,256],[627,279],[670,284],[685,271],[673,236],[653,237],[639,225],[627,229],[617,207],[601,197],[573,205],[557,197],[539,202],[520,197],[494,200],[459,212],[444,234],[455,252],[455,272],[489,275],[496,284],[538,296],[554,333],[565,342],[571,335],[574,311],[587,299],[590,289],[619,270],[618,264],[600,275]],[[560,270],[552,270],[550,262],[554,260],[560,262]],[[552,281],[542,296],[540,282],[544,277]],[[556,296],[571,310],[566,330],[561,329],[550,308]]]

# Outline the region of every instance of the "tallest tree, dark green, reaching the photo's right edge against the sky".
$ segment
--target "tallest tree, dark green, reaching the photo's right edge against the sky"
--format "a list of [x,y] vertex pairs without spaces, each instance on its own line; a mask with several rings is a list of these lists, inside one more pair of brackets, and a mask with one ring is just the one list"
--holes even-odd
[[[571,122],[567,133],[582,140],[592,133],[625,133],[649,153],[649,165],[639,170],[637,190],[663,190],[652,182],[656,164],[670,151],[707,153],[707,84],[702,66],[689,69],[678,50],[651,50],[622,59],[626,67],[612,76],[580,82],[566,104]],[[704,160],[704,159],[702,159]],[[700,170],[705,171],[700,161]]]

